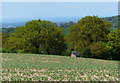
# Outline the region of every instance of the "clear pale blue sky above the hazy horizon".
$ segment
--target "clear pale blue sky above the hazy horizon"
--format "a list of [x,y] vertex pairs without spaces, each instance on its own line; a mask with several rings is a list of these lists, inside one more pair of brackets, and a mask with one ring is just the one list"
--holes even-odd
[[118,14],[118,2],[2,2],[3,19],[49,17],[109,17]]

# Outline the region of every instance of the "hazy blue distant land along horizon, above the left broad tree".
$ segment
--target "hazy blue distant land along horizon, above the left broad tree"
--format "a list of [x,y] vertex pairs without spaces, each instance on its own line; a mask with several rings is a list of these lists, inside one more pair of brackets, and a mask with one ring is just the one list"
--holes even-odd
[[54,23],[57,23],[58,25],[60,23],[65,23],[69,21],[77,22],[81,17],[44,17],[44,18],[28,18],[28,19],[21,19],[21,20],[16,20],[16,19],[3,19],[3,23],[0,23],[2,27],[0,28],[10,28],[10,27],[18,27],[18,26],[24,26],[26,22],[31,21],[31,20],[47,20],[51,21]]

